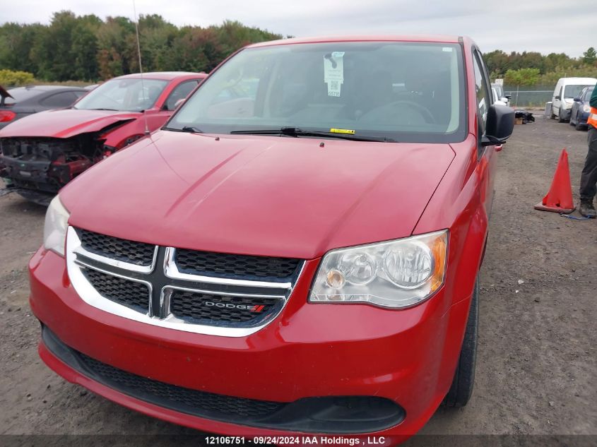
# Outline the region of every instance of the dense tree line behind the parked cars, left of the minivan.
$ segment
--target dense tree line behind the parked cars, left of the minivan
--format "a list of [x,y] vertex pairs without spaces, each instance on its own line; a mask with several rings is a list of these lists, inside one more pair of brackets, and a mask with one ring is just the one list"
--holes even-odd
[[[52,15],[49,25],[0,26],[0,69],[26,71],[44,81],[99,81],[139,71],[135,23],[126,17]],[[259,28],[225,21],[208,28],[138,19],[143,71],[211,71],[246,44],[281,39]]]

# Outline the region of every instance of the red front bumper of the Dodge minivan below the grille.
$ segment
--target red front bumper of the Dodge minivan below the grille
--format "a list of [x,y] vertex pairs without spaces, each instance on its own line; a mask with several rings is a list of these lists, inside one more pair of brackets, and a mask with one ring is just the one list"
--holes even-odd
[[[307,262],[283,314],[244,338],[183,333],[95,309],[73,290],[64,259],[42,249],[30,261],[30,303],[45,328],[68,350],[126,373],[215,395],[288,405],[329,396],[381,398],[403,414],[396,412],[391,424],[360,426],[362,433],[415,434],[447,393],[470,299],[449,306],[444,287],[427,302],[401,311],[363,304],[308,304],[317,263]],[[355,434],[343,430],[341,420],[324,429],[317,424],[288,429],[288,424],[259,425],[191,414],[102,383],[68,362],[47,341],[40,343],[40,355],[71,382],[194,429],[235,436]]]

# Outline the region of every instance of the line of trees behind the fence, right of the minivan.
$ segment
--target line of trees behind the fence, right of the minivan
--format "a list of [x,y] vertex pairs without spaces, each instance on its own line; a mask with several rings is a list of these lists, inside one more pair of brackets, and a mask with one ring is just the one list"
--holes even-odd
[[589,47],[579,58],[565,53],[512,52],[497,49],[483,54],[490,77],[507,85],[555,85],[564,77],[597,78],[597,51]]

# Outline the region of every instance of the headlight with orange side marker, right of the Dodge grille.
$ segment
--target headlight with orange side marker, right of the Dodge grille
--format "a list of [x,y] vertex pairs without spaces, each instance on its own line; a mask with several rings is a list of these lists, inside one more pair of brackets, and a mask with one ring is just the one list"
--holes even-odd
[[364,302],[406,307],[444,283],[448,231],[329,251],[309,302]]

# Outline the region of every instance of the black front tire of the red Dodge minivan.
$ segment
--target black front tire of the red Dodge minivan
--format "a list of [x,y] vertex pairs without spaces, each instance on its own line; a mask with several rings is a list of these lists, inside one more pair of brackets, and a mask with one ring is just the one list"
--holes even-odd
[[445,407],[463,407],[473,395],[475,383],[475,365],[477,363],[477,338],[479,332],[479,283],[475,282],[475,290],[468,310],[466,331],[454,380],[442,405]]

